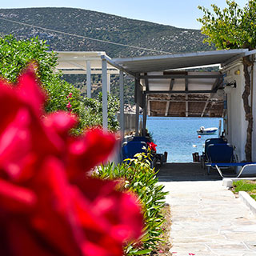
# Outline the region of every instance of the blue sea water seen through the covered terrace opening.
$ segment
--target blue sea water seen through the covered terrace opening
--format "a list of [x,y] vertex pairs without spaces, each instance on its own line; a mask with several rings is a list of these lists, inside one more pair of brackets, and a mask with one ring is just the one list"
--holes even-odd
[[148,117],[146,128],[158,145],[157,153],[168,152],[167,162],[193,162],[192,154],[202,154],[206,138],[218,138],[218,132],[198,138],[196,130],[200,126],[218,127],[220,119]]

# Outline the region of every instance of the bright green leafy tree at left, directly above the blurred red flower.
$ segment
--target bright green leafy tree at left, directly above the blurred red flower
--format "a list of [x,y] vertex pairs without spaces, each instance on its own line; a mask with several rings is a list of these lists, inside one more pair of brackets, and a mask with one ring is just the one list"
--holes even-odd
[[75,112],[80,106],[79,91],[62,80],[59,72],[54,72],[58,65],[57,54],[47,50],[46,42],[38,38],[16,40],[11,35],[0,38],[0,75],[10,82],[16,82],[18,74],[30,62],[37,62],[38,78],[48,93],[46,111],[67,110],[68,95],[72,93],[72,107]]

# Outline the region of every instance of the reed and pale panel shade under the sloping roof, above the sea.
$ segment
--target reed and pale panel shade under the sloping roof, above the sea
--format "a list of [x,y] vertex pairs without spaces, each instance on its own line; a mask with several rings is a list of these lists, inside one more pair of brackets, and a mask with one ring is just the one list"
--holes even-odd
[[140,84],[146,93],[150,116],[222,117],[222,74],[167,71],[147,73]]

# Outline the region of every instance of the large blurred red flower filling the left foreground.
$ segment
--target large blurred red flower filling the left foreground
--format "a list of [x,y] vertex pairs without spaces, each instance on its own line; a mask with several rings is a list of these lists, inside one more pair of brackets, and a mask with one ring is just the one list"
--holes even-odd
[[121,256],[142,234],[138,199],[87,175],[114,135],[71,137],[78,118],[46,114],[45,100],[31,67],[15,86],[0,81],[0,255]]

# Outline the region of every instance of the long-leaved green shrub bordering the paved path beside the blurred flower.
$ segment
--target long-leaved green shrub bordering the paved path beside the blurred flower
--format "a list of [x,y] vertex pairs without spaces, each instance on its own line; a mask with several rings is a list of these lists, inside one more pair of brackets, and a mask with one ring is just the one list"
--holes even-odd
[[129,159],[118,166],[108,163],[101,166],[94,176],[104,179],[125,179],[123,190],[130,190],[138,195],[142,203],[145,218],[145,233],[142,237],[142,245],[134,244],[126,246],[127,255],[149,254],[161,242],[162,223],[164,216],[161,210],[165,205],[166,192],[164,186],[158,185],[156,172],[150,168],[149,156],[145,153],[136,154],[137,158]]

